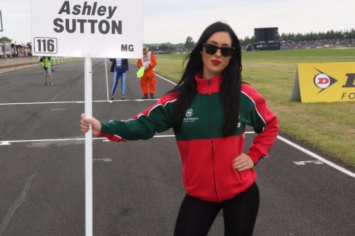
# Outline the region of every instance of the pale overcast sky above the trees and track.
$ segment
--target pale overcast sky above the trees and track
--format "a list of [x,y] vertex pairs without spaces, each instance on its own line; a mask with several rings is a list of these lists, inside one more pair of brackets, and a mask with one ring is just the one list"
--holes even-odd
[[[63,0],[43,3],[50,7],[52,1]],[[30,5],[30,0],[0,0],[1,37],[31,41]],[[185,43],[188,36],[197,41],[215,21],[231,25],[241,39],[259,27],[278,27],[279,34],[355,28],[355,0],[143,0],[143,9],[144,43]]]

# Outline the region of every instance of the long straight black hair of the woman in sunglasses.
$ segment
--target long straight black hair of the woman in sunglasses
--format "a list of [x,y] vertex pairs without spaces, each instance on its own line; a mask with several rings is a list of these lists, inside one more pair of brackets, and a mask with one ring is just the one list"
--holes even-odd
[[178,92],[174,113],[173,113],[173,129],[179,132],[180,126],[185,117],[186,110],[189,108],[196,94],[195,76],[203,69],[201,50],[203,44],[216,32],[227,32],[232,39],[232,47],[235,47],[229,64],[222,72],[220,84],[220,93],[223,101],[223,137],[230,136],[237,129],[239,121],[240,109],[240,92],[241,92],[241,48],[238,37],[232,28],[223,23],[215,22],[208,26],[200,36],[196,46],[189,53],[185,60],[186,68],[181,80],[170,92]]

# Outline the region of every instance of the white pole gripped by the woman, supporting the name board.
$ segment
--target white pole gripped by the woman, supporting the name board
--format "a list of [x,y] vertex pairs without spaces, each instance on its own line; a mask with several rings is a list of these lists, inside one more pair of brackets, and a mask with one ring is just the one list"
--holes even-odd
[[[92,117],[92,60],[85,57],[85,116]],[[85,235],[92,236],[92,128],[85,133]]]

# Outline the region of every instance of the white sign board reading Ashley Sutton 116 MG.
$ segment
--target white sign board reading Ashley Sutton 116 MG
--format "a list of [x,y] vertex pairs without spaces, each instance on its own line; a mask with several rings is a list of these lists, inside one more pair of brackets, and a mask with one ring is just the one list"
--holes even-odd
[[31,0],[37,56],[141,58],[142,0]]

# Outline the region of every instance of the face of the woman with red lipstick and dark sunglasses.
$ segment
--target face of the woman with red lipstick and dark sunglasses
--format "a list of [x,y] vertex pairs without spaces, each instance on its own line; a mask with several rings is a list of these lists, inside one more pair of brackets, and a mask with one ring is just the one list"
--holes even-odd
[[[209,45],[217,47],[232,47],[232,39],[228,32],[216,32],[205,42]],[[211,52],[210,52],[211,53]],[[206,46],[202,48],[202,62],[204,63],[204,71],[202,78],[209,79],[219,75],[231,60],[231,56],[223,56],[221,50],[217,49],[214,54],[206,52]]]

